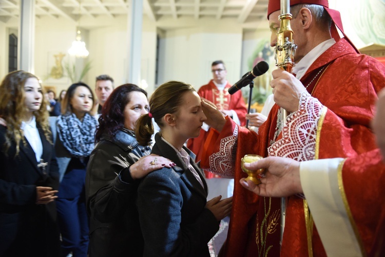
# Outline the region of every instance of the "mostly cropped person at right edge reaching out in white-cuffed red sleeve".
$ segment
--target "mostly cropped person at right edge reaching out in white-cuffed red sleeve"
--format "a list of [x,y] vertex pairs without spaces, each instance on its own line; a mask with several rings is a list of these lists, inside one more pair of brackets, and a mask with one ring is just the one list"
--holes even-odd
[[348,158],[302,162],[267,157],[247,167],[266,170],[261,184],[256,186],[243,179],[241,183],[260,196],[303,193],[328,256],[382,256],[385,253],[385,90],[379,94],[373,130],[380,149]]

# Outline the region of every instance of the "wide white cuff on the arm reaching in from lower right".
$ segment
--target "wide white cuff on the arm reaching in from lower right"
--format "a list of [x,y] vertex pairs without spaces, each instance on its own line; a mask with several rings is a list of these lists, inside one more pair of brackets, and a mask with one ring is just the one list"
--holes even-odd
[[300,163],[303,193],[328,256],[361,256],[338,186],[343,158]]

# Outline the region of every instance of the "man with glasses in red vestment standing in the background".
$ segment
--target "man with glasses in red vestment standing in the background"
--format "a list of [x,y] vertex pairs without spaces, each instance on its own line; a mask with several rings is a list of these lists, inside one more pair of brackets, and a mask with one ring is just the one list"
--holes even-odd
[[[232,86],[226,80],[227,70],[223,61],[215,61],[211,64],[213,79],[207,85],[203,85],[199,90],[199,96],[213,102],[224,116],[231,117],[238,125],[244,126],[246,123],[245,115],[247,113],[246,105],[239,90],[234,95],[228,94],[228,89]],[[187,141],[187,148],[197,155],[196,161],[201,159],[203,144],[207,138],[209,126],[203,124],[201,133],[197,138],[191,138]],[[222,197],[233,195],[234,179],[221,179],[219,175],[206,172],[206,178],[212,178],[207,181],[207,185],[213,187],[208,190],[207,198],[221,194]],[[218,185],[218,183],[220,185]],[[213,184],[213,185],[211,185]]]

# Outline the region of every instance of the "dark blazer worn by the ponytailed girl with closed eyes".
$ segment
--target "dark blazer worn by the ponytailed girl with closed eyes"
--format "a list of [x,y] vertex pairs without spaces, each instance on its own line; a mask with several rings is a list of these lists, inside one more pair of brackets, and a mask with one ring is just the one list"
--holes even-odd
[[151,153],[177,165],[148,174],[138,187],[137,207],[144,238],[143,256],[210,256],[207,243],[219,230],[214,214],[205,208],[207,185],[202,170],[190,155],[204,187],[183,159],[159,133]]

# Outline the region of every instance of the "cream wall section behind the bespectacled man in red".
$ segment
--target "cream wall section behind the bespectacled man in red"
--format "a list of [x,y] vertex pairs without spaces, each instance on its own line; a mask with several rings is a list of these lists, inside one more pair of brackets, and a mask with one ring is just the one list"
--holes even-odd
[[192,27],[165,31],[160,40],[158,84],[181,80],[198,89],[211,78],[211,63],[223,60],[230,83],[239,79],[242,28],[207,33],[207,28]]

